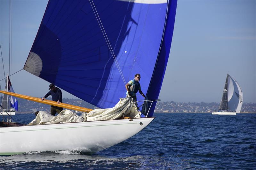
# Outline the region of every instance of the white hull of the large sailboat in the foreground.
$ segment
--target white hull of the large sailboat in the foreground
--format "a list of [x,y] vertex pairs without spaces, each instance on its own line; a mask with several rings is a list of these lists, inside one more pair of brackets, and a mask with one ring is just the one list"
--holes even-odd
[[0,128],[0,155],[79,149],[98,152],[145,128],[154,117]]

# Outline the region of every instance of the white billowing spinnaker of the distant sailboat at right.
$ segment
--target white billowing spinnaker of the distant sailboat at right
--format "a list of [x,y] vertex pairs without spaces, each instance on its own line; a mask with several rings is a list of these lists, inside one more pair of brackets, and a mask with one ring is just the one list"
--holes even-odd
[[240,113],[243,105],[243,92],[237,81],[228,75],[228,110]]

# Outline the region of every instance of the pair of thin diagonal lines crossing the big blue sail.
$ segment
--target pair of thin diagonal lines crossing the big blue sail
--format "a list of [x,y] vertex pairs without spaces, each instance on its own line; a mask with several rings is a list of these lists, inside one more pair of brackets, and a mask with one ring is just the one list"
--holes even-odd
[[[92,2],[91,2],[91,1],[92,1]],[[112,56],[113,56],[113,59],[114,59],[114,61],[115,61],[115,63],[116,63],[116,67],[117,67],[117,69],[118,69],[118,71],[119,71],[119,74],[121,75],[122,80],[124,81],[124,85],[125,85],[125,84],[126,84],[126,81],[125,81],[125,79],[124,79],[124,75],[123,75],[122,70],[121,70],[121,68],[120,68],[120,66],[119,66],[119,64],[118,64],[118,62],[117,62],[117,60],[116,60],[115,53],[114,53],[114,51],[113,51],[113,49],[112,49],[112,46],[111,46],[111,44],[110,44],[110,42],[109,42],[107,33],[105,32],[105,29],[104,29],[103,24],[102,24],[102,22],[101,22],[101,20],[100,20],[100,16],[99,16],[99,14],[98,14],[98,12],[97,12],[97,10],[96,10],[96,7],[95,7],[95,5],[94,5],[94,3],[93,3],[93,0],[90,0],[90,4],[91,4],[91,6],[93,5],[93,6],[92,6],[92,10],[93,10],[93,12],[94,12],[94,15],[95,15],[95,17],[96,17],[96,19],[97,19],[99,25],[100,25],[101,32],[103,33],[103,36],[104,36],[104,38],[105,38],[105,40],[106,40],[106,42],[107,42],[108,48],[109,48],[109,50],[110,50],[110,52],[111,52],[111,54],[112,54]],[[96,14],[97,14],[97,15],[96,15]]]

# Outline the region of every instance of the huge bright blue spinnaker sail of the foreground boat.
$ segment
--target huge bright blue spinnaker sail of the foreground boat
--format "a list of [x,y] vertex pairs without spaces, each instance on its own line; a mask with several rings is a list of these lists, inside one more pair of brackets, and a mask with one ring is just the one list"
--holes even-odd
[[113,107],[139,73],[142,91],[157,99],[176,5],[177,0],[50,0],[24,69],[100,108]]

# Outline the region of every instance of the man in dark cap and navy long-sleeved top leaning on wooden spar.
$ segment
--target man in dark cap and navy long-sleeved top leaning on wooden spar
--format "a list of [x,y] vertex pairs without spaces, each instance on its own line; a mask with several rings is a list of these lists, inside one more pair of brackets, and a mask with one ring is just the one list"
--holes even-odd
[[[57,102],[58,104],[62,103],[62,93],[61,90],[57,87],[55,87],[54,84],[50,84],[49,85],[49,92],[41,99],[42,101],[44,101],[44,99],[50,95],[52,95],[52,101]],[[51,106],[51,114],[53,116],[55,116],[56,113],[60,113],[63,110],[63,108],[61,107],[57,107],[57,106]]]

